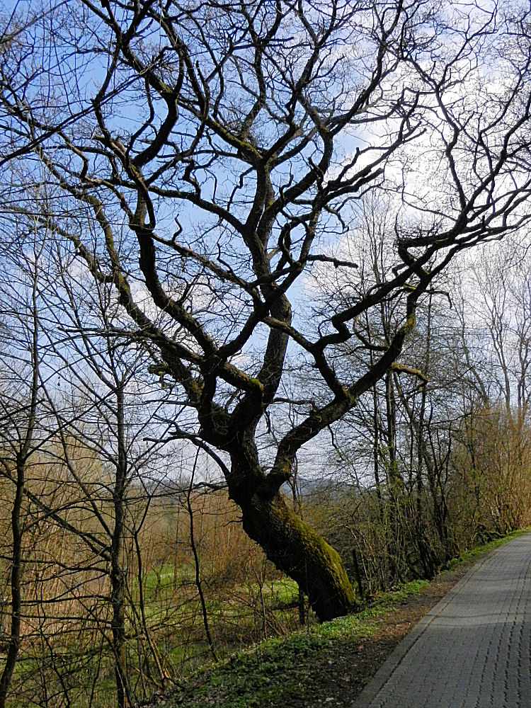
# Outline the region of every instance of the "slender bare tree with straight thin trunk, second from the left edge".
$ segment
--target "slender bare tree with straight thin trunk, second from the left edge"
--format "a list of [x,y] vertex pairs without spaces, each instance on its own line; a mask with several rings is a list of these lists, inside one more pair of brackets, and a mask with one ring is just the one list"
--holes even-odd
[[[127,656],[127,634],[144,636],[144,651],[132,652],[137,656],[139,674],[146,673],[151,679],[153,663],[159,675],[151,686],[169,678],[150,637],[142,595],[135,603],[127,581],[132,577],[128,567],[135,552],[137,565],[142,563],[139,533],[158,482],[166,474],[159,469],[159,445],[154,440],[154,431],[159,435],[164,432],[164,423],[158,421],[164,421],[161,410],[166,394],[151,377],[146,381],[142,376],[149,362],[143,348],[135,339],[118,333],[119,305],[110,285],[99,282],[80,299],[81,282],[79,278],[76,282],[67,254],[53,242],[51,246],[49,277],[42,287],[51,325],[47,331],[47,366],[67,382],[76,414],[68,406],[57,406],[50,394],[49,407],[59,430],[57,457],[67,468],[76,505],[84,509],[83,525],[89,519],[93,533],[101,539],[101,559],[105,560],[110,587],[104,601],[102,593],[102,607],[93,614],[103,617],[103,607],[110,607],[110,619],[99,622],[113,661],[116,704],[122,708],[139,700],[130,680],[128,665],[132,659]],[[174,406],[171,409],[174,411]],[[70,414],[65,416],[65,411]],[[100,474],[93,479],[79,470],[72,457],[78,447],[90,451],[101,466]],[[61,524],[62,518],[57,522]],[[83,539],[82,528],[80,536]],[[127,622],[131,605],[139,606],[132,607],[133,617]],[[146,695],[149,690],[144,689],[140,698]]]

